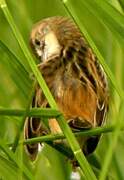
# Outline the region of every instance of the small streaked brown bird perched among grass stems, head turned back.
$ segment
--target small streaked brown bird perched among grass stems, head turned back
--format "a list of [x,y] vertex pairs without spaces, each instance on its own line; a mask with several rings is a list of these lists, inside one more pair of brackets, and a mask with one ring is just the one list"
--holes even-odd
[[[30,36],[33,52],[59,110],[73,131],[101,126],[108,109],[108,84],[97,57],[74,22],[67,17],[50,17],[34,25]],[[32,107],[49,107],[37,85]],[[49,119],[51,133],[60,133],[56,119]],[[25,123],[25,138],[46,134],[38,118]],[[92,153],[99,136],[78,139],[83,152]],[[38,144],[26,145],[30,158]]]

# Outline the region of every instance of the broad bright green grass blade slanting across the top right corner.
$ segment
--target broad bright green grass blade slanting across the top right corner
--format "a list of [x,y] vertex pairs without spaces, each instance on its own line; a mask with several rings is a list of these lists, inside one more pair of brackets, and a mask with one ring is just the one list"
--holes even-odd
[[[124,40],[124,16],[107,1],[82,1],[102,23],[107,25],[118,41]],[[95,9],[94,9],[95,8]],[[122,41],[123,42],[123,41]]]

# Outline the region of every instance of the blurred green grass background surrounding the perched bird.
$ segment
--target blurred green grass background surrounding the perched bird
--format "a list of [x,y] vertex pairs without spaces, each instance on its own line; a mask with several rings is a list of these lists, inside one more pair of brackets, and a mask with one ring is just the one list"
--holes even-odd
[[[6,0],[14,21],[29,46],[32,25],[49,16],[67,16],[68,10],[60,0]],[[66,0],[73,17],[79,17],[87,29],[106,64],[114,74],[114,82],[124,88],[124,1],[123,0]],[[30,48],[30,47],[29,47]],[[26,107],[31,89],[29,74],[31,69],[23,55],[12,30],[0,9],[0,108],[20,109]],[[108,73],[108,79],[111,74]],[[119,96],[111,81],[110,110],[107,124],[118,124],[123,97]],[[118,88],[117,88],[118,89]],[[8,109],[6,109],[8,108]],[[7,112],[7,111],[6,111]],[[124,110],[121,111],[124,114]],[[123,118],[121,118],[123,121]],[[58,151],[45,144],[37,161],[31,163],[23,146],[18,146],[15,154],[7,147],[19,131],[22,118],[3,116],[0,112],[0,179],[70,179],[72,168],[67,159]],[[122,122],[123,126],[123,122]],[[112,147],[113,132],[102,135],[94,154],[88,159],[96,176],[101,172],[108,148],[112,149],[112,159],[107,171],[108,179],[124,179],[124,133],[119,131],[117,143]],[[21,137],[23,138],[23,137]],[[8,158],[9,157],[9,158]],[[109,159],[109,158],[108,158]],[[23,174],[29,174],[27,177]],[[29,178],[30,177],[30,178]],[[85,179],[83,176],[81,179]]]

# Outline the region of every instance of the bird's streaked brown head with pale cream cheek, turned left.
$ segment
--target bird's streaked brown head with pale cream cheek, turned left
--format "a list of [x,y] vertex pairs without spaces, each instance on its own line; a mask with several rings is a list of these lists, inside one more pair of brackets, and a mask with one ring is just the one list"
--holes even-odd
[[34,25],[30,43],[42,62],[59,56],[62,49],[81,38],[77,26],[67,17],[50,17]]

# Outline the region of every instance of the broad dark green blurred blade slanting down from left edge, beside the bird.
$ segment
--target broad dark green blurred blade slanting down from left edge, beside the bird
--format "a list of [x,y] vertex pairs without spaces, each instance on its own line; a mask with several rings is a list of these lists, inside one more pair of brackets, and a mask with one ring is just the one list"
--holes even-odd
[[0,58],[16,86],[27,97],[30,89],[29,74],[25,67],[20,63],[18,58],[8,49],[8,47],[0,40]]

